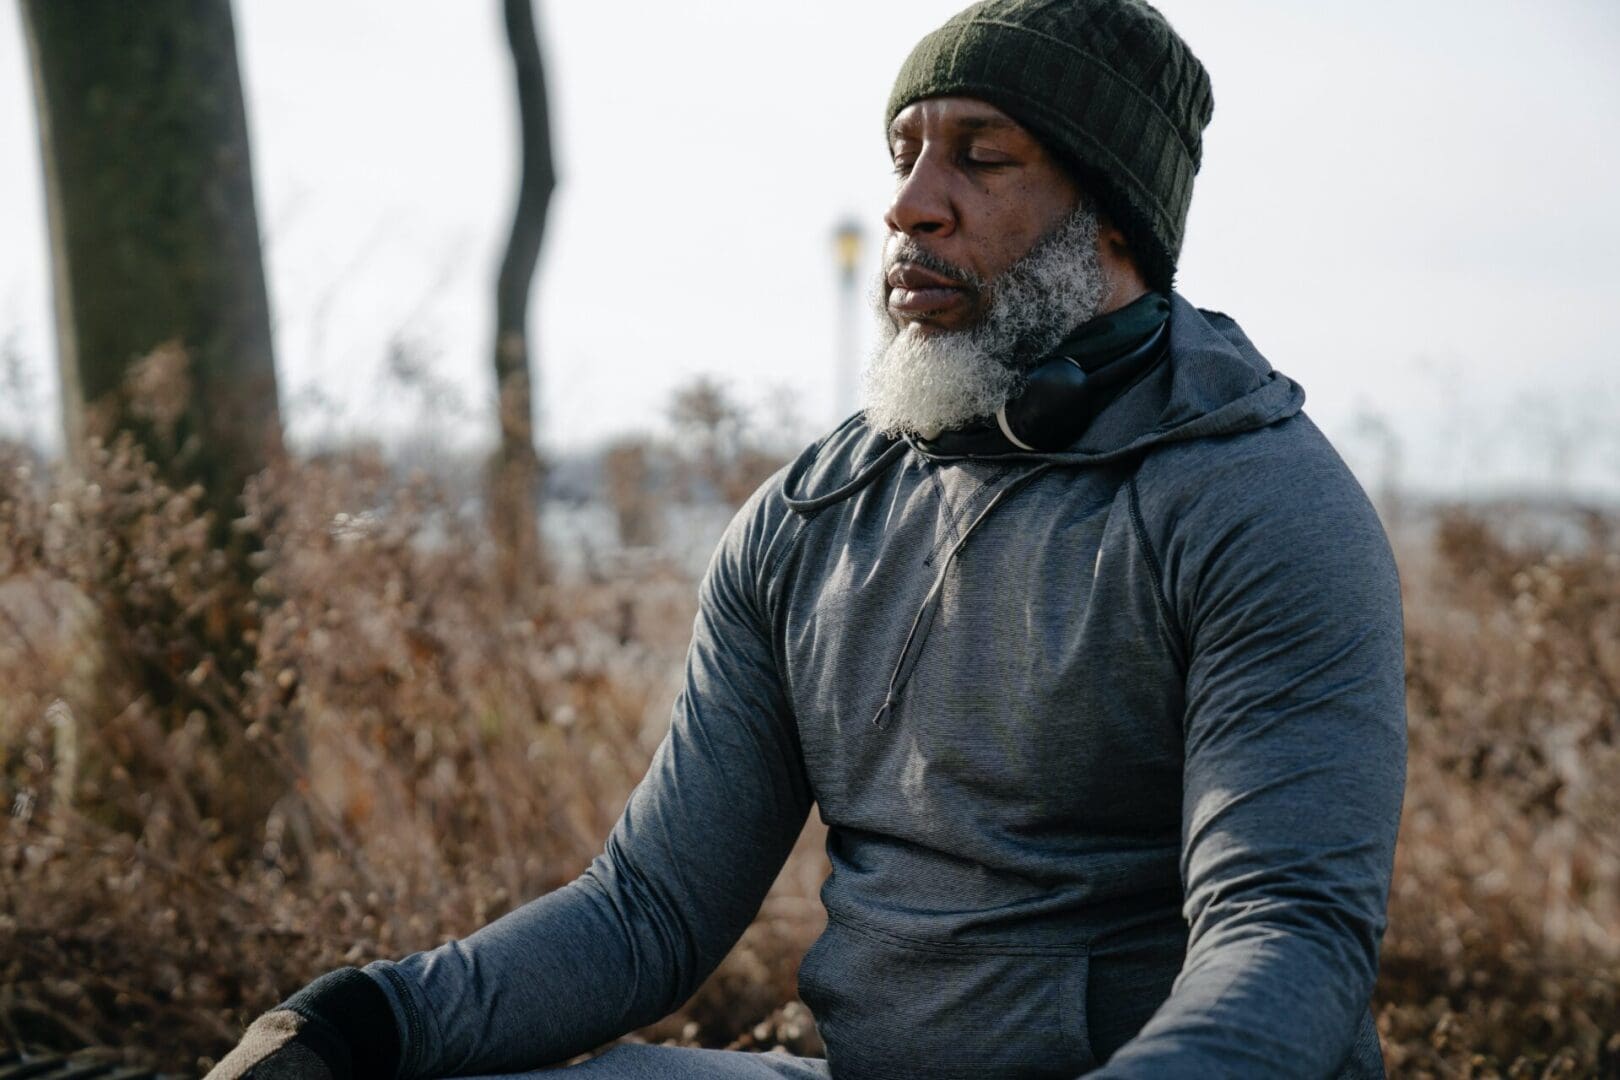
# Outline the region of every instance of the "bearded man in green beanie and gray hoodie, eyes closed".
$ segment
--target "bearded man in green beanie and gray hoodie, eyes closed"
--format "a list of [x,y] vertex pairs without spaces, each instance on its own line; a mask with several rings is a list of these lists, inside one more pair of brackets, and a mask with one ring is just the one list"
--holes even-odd
[[1210,112],[1140,0],[987,0],[925,37],[888,108],[867,406],[721,541],[604,853],[322,976],[217,1075],[528,1070],[653,1022],[812,803],[828,1059],[578,1074],[1382,1075],[1398,586],[1299,387],[1170,291]]

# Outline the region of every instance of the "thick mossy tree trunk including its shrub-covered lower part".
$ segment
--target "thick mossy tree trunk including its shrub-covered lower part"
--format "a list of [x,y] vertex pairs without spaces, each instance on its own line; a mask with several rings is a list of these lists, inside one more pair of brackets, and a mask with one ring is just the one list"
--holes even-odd
[[[165,551],[149,538],[165,523],[115,499],[92,596],[107,670],[128,672],[165,725],[202,709],[232,745],[243,717],[227,714],[254,664],[258,538],[230,523],[248,478],[280,452],[280,415],[230,0],[23,0],[21,11],[68,450],[97,474],[107,455],[89,440],[133,436],[160,483],[201,489],[207,539],[225,554],[199,560],[194,583],[143,568],[151,580],[136,588],[126,568],[143,567],[143,544]],[[262,772],[246,742],[225,761]],[[224,785],[199,811],[249,853],[280,790]]]

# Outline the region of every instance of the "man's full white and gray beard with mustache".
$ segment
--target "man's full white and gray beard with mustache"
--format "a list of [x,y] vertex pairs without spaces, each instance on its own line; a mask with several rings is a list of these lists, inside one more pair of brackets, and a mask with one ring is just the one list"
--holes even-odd
[[993,416],[1042,356],[1102,309],[1106,282],[1097,212],[1081,207],[990,282],[985,316],[964,330],[899,327],[888,313],[888,269],[906,259],[977,288],[977,275],[891,241],[878,279],[878,347],[862,381],[867,423],[886,434],[933,437]]

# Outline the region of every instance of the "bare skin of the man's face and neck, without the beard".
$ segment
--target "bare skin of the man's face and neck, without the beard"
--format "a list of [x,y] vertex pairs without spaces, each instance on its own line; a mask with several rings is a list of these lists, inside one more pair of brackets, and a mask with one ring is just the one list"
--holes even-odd
[[[932,269],[886,261],[888,311],[897,325],[962,330],[983,317],[991,282],[1085,201],[1069,172],[1025,128],[974,97],[928,97],[894,117],[889,155],[896,188],[883,223],[888,248],[909,240]],[[1108,280],[1103,311],[1147,291],[1147,282],[1106,217],[1098,257]],[[966,272],[966,274],[964,274]]]

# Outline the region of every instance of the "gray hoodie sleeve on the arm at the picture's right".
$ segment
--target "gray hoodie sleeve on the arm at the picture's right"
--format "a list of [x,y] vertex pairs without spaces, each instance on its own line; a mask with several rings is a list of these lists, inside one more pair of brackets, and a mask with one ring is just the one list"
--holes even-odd
[[1189,946],[1095,1075],[1333,1077],[1367,1038],[1405,789],[1400,585],[1307,419],[1213,457],[1140,495],[1186,643]]

